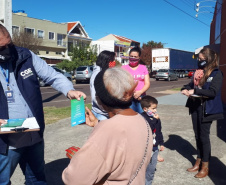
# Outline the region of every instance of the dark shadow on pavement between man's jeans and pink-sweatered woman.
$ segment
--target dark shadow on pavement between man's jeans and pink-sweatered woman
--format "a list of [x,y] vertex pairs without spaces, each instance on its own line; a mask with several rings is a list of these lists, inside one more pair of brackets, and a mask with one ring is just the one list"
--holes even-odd
[[45,165],[47,183],[51,185],[64,185],[61,176],[69,162],[70,160],[68,158],[64,158],[47,163]]

